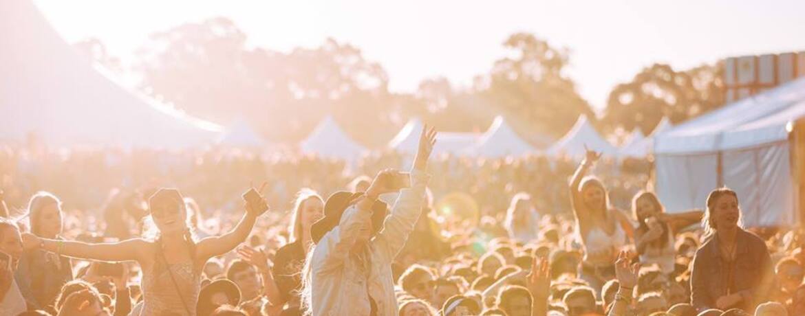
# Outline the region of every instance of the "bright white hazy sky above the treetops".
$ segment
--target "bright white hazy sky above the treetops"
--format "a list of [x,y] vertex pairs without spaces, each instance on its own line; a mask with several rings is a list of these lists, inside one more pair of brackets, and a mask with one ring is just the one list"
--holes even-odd
[[805,50],[805,1],[739,0],[34,0],[69,42],[97,37],[130,60],[154,31],[232,18],[250,45],[279,51],[327,37],[360,47],[394,91],[446,76],[469,84],[516,31],[572,51],[568,72],[592,105],[654,62],[689,68],[725,56]]

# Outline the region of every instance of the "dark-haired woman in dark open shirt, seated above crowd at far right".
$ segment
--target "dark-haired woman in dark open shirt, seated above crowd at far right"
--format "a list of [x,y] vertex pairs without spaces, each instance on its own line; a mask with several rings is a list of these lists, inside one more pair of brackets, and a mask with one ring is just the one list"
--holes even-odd
[[774,285],[774,266],[766,243],[741,228],[735,191],[710,192],[702,225],[708,241],[696,251],[691,271],[691,303],[712,308],[754,310]]

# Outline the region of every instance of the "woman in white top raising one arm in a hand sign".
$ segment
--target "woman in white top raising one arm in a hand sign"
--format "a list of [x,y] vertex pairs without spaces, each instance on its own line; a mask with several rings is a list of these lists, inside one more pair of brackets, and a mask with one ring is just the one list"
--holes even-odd
[[626,215],[609,206],[601,180],[584,176],[600,157],[601,154],[587,150],[570,183],[576,234],[584,245],[584,261],[579,274],[596,291],[601,291],[604,283],[615,277],[613,262],[632,234]]

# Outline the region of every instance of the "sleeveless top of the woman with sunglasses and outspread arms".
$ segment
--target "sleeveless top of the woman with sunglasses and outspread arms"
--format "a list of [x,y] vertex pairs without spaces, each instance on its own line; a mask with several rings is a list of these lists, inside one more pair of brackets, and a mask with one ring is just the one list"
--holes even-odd
[[[183,262],[167,264],[159,275],[155,275],[151,267],[148,273],[142,275],[142,294],[143,306],[141,316],[177,314],[184,316],[196,315],[196,303],[198,302],[201,289],[201,274],[194,269],[193,263]],[[171,280],[171,272],[176,280],[176,285]],[[181,291],[181,297],[177,292]],[[184,302],[182,302],[184,298]],[[185,310],[184,304],[187,304]]]

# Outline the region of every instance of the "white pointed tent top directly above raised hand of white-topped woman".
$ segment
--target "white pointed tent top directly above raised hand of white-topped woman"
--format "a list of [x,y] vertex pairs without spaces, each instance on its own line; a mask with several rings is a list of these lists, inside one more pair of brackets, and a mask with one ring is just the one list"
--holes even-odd
[[618,152],[617,147],[612,146],[604,137],[601,137],[587,120],[587,117],[582,115],[568,133],[548,148],[547,154],[551,156],[564,154],[574,158],[583,157],[585,154],[584,146],[605,156],[615,156]]

